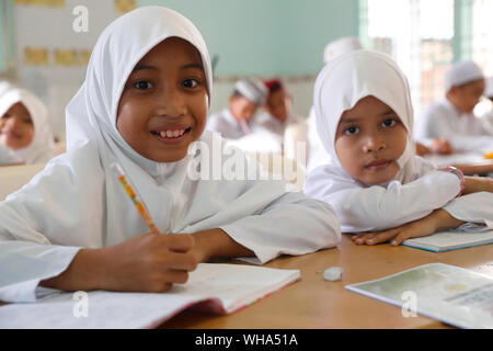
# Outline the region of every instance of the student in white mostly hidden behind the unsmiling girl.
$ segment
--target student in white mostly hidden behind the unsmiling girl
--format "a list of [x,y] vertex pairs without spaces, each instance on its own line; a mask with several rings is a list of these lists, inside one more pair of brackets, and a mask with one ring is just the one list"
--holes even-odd
[[[363,45],[357,37],[345,36],[341,37],[336,41],[329,43],[323,50],[323,64],[332,61],[341,55],[349,53],[352,50],[362,49]],[[310,109],[310,113],[307,118],[308,124],[308,143],[309,143],[309,152],[308,152],[308,162],[307,162],[307,171],[311,171],[319,166],[326,165],[331,162],[331,157],[326,154],[325,148],[320,141],[319,134],[317,132],[317,123],[314,116],[313,106]]]

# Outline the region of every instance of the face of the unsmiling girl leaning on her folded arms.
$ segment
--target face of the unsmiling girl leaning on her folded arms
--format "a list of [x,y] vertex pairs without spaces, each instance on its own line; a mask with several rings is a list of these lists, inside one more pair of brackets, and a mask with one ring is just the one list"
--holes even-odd
[[341,116],[335,151],[344,170],[369,185],[390,181],[399,171],[408,131],[395,112],[366,97]]

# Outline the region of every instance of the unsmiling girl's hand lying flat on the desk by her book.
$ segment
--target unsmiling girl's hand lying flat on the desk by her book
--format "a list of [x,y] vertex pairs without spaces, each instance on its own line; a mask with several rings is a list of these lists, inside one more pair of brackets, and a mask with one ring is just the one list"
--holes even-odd
[[388,230],[355,235],[352,239],[356,245],[371,246],[392,240],[392,246],[399,246],[406,239],[426,237],[438,229],[457,228],[463,223],[450,216],[445,210],[435,210],[421,219]]

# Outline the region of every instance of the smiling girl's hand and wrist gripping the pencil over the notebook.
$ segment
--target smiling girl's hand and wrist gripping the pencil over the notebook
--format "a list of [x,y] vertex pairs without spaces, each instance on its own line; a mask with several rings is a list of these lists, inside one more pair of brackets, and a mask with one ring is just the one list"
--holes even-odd
[[103,249],[81,249],[69,267],[41,286],[64,291],[165,292],[197,267],[190,235],[144,234]]

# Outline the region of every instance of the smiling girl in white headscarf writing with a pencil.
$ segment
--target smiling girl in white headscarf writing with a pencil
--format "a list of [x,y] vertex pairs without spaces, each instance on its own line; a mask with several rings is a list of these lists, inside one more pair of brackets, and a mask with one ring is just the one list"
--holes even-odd
[[[332,208],[282,182],[192,180],[214,154],[187,152],[197,139],[213,147],[211,91],[206,45],[181,14],[145,7],[110,24],[67,106],[68,152],[0,203],[0,301],[33,301],[38,285],[163,292],[213,257],[264,263],[335,246]],[[163,235],[149,233],[115,162]]]

